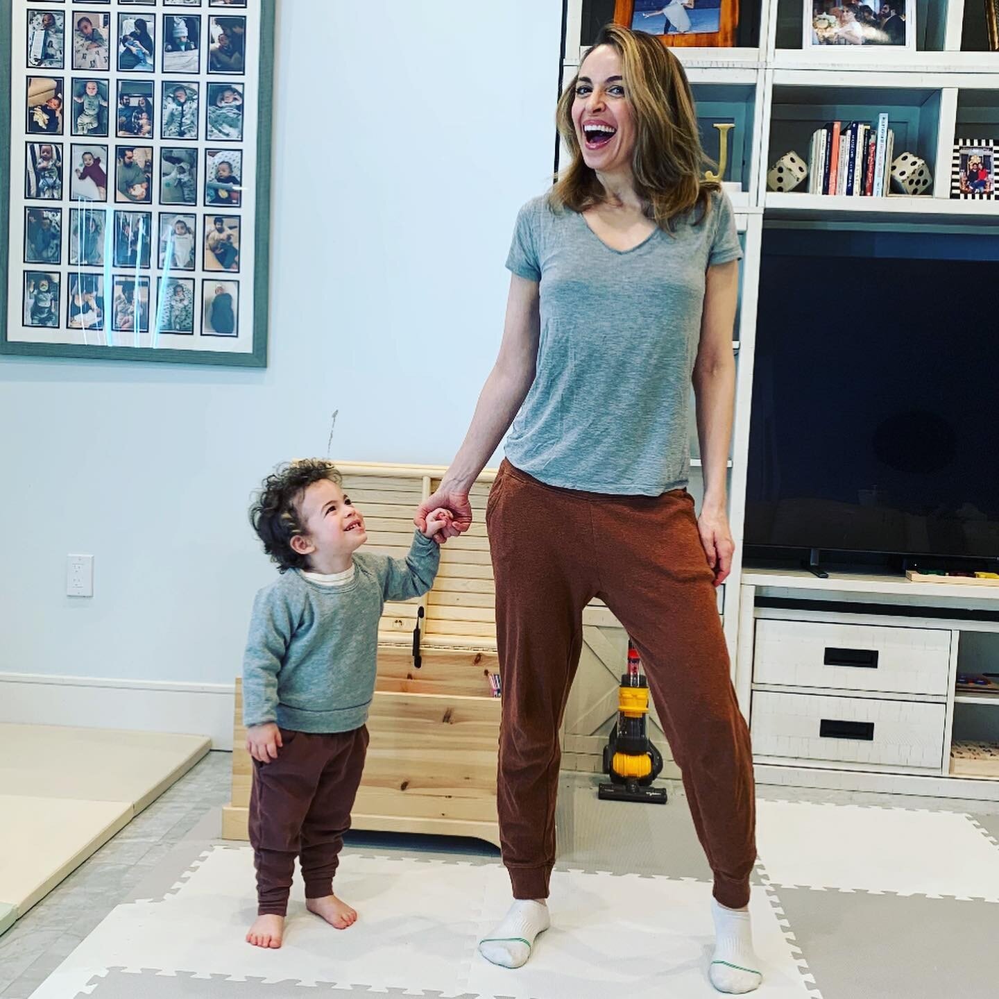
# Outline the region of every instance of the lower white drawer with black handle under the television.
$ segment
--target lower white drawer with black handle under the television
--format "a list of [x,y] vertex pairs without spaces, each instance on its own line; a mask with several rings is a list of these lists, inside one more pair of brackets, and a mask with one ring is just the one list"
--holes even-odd
[[756,691],[753,755],[940,770],[943,704]]

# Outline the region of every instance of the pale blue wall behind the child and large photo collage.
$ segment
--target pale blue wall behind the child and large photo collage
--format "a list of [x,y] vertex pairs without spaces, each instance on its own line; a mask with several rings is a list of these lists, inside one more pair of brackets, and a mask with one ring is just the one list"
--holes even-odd
[[[335,457],[450,461],[548,180],[560,17],[279,2],[269,367],[0,360],[0,672],[229,682],[271,466],[325,454],[335,409]],[[65,596],[70,552],[93,599]]]

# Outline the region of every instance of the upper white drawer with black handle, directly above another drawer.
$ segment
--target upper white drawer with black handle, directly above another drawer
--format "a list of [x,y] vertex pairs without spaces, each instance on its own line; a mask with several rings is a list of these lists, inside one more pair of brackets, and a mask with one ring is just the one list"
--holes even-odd
[[946,695],[949,667],[950,632],[942,629],[756,622],[755,683]]

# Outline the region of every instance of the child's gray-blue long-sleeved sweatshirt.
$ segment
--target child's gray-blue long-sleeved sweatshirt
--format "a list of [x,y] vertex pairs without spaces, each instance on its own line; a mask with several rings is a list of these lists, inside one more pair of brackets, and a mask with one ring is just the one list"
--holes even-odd
[[441,552],[419,531],[405,559],[358,552],[354,579],[328,587],[289,569],[254,601],[243,658],[243,721],[350,732],[375,694],[378,622],[387,600],[423,596]]

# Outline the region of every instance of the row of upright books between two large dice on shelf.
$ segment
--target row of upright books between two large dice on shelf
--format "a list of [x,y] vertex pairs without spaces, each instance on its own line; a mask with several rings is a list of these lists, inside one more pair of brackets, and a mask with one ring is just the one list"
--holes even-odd
[[888,115],[876,124],[830,121],[812,135],[808,193],[883,197],[891,184],[895,133]]

